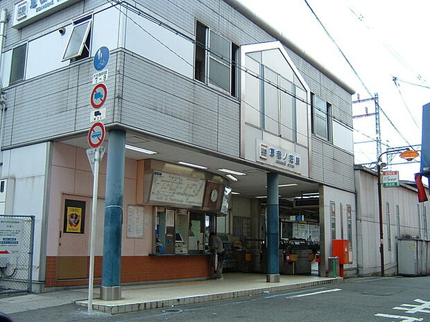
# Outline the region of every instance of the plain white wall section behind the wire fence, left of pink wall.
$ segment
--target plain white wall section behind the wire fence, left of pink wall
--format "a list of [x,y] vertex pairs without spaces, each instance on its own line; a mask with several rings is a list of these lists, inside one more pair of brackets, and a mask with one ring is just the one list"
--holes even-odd
[[[3,151],[1,177],[15,178],[12,215],[35,216],[33,276],[40,271],[43,235],[44,193],[49,143],[40,143]],[[31,160],[31,162],[28,162]]]

